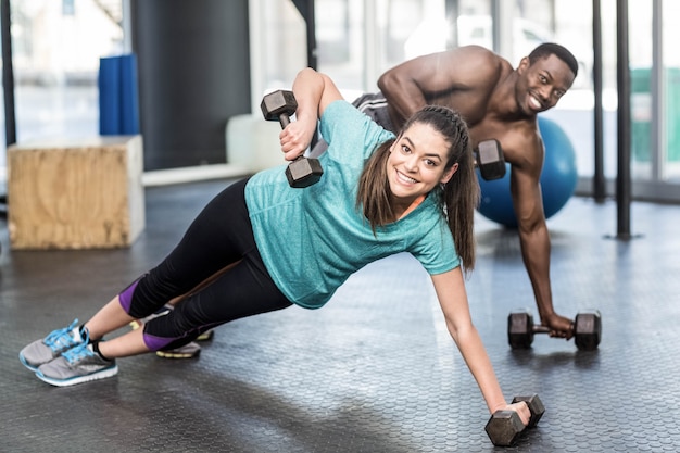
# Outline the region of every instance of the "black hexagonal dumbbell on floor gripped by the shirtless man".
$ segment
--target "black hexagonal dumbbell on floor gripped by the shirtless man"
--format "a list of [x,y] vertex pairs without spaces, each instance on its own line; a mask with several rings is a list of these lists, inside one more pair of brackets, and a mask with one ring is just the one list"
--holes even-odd
[[[528,310],[517,310],[507,316],[507,340],[513,349],[528,349],[536,334],[550,334],[546,326],[536,326]],[[580,312],[574,323],[574,342],[581,351],[597,349],[602,338],[602,317],[597,310]]]

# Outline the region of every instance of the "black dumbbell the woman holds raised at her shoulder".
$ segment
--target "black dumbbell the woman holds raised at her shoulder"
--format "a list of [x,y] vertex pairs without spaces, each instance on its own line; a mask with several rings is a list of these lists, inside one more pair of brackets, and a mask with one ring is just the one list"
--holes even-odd
[[[278,90],[266,95],[260,104],[262,114],[267,121],[277,121],[285,128],[290,123],[290,116],[298,109],[298,101],[292,91]],[[322,178],[324,168],[318,159],[299,156],[286,168],[286,177],[290,187],[303,188],[312,186]]]

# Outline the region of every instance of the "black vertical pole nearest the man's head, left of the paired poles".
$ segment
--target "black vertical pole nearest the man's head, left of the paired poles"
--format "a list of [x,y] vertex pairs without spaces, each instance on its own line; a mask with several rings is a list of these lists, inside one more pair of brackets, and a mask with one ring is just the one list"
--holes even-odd
[[593,0],[593,92],[595,97],[595,108],[593,112],[595,140],[593,197],[597,203],[603,203],[607,194],[604,177],[604,114],[602,105],[602,2],[601,0]]

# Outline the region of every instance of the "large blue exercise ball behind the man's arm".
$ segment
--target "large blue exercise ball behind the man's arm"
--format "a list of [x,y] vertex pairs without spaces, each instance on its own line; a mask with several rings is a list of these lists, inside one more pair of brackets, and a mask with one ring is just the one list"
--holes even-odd
[[[545,218],[559,211],[574,194],[578,173],[576,152],[566,133],[553,121],[539,117],[539,130],[545,147],[545,162],[541,173],[541,192]],[[481,188],[479,213],[484,217],[505,225],[517,227],[517,217],[509,192],[509,164],[501,179],[484,180],[477,171]]]

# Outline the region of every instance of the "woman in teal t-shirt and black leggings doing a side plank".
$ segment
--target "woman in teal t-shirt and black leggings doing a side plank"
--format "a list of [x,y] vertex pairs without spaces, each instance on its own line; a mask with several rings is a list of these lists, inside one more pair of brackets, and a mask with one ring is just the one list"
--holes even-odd
[[[55,386],[110,377],[115,358],[177,348],[232,319],[293,303],[318,309],[354,272],[406,251],[431,275],[489,411],[516,411],[526,425],[527,405],[506,403],[470,318],[462,267],[474,267],[479,188],[461,116],[428,106],[394,137],[311,68],[298,74],[293,92],[297,121],[281,131],[281,150],[289,161],[301,155],[320,118],[329,148],[319,183],[292,189],[274,168],[229,186],[158,267],[83,326],[76,320],[24,348],[22,363]],[[101,340],[186,293],[143,329]]]

